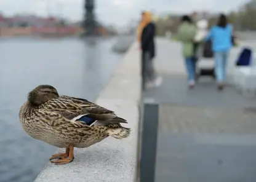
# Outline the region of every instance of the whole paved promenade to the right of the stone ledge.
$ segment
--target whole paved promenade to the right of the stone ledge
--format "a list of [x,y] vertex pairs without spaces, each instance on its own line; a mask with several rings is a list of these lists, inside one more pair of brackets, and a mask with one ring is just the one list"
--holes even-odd
[[[163,83],[143,93],[159,103],[156,182],[254,182],[256,99],[231,86],[220,93],[210,78],[188,90],[180,44],[158,39],[157,45]],[[239,51],[230,53],[230,77]]]

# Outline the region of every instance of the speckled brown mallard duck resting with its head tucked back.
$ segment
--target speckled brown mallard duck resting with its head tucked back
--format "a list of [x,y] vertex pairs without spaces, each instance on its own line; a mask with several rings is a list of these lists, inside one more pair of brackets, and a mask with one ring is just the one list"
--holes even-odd
[[113,111],[82,98],[60,96],[52,85],[39,85],[29,92],[19,118],[31,137],[66,148],[65,153],[50,157],[55,164],[72,162],[74,147],[87,148],[108,136],[130,135],[130,129],[121,126],[127,121]]

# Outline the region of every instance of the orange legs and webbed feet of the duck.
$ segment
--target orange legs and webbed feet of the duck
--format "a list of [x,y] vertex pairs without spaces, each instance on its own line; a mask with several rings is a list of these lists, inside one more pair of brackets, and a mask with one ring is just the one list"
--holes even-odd
[[[67,149],[68,149],[68,154],[67,154]],[[74,159],[74,147],[70,146],[70,148],[66,148],[66,153],[62,154],[62,156],[60,156],[60,154],[55,154],[54,156],[56,155],[58,155],[57,157],[54,158],[56,160],[50,160],[50,162],[55,163],[56,165],[68,164],[72,162]]]

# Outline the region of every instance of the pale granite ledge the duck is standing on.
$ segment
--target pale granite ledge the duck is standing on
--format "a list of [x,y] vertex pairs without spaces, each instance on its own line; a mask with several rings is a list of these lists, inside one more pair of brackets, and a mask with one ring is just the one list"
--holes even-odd
[[140,100],[140,62],[135,50],[134,44],[96,101],[98,105],[112,109],[118,116],[127,119],[129,123],[125,127],[132,129],[130,137],[124,140],[109,137],[89,148],[75,149],[73,162],[66,165],[47,164],[36,182],[135,180]]

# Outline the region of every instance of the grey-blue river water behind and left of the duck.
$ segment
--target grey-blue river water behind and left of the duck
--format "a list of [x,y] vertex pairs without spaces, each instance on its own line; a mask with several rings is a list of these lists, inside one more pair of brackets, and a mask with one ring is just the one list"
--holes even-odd
[[122,55],[114,39],[0,39],[0,181],[30,182],[56,148],[23,132],[18,111],[27,93],[50,84],[60,95],[95,100]]

